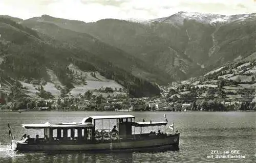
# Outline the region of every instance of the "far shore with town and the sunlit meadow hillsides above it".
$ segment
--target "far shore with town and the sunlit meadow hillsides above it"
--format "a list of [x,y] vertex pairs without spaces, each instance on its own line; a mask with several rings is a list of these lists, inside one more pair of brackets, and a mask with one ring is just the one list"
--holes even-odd
[[3,79],[0,110],[256,111],[256,60],[227,64],[203,76],[158,86],[158,95],[140,98],[133,98],[134,88],[98,72],[83,72],[72,64],[66,69],[75,81],[72,87],[62,86],[56,79],[53,83],[44,78]]

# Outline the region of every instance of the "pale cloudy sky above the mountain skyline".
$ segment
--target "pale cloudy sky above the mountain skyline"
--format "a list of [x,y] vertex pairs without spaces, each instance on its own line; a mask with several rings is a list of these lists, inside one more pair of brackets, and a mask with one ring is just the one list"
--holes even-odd
[[105,18],[154,19],[179,11],[233,15],[256,12],[256,0],[0,0],[0,15],[44,14],[92,22]]

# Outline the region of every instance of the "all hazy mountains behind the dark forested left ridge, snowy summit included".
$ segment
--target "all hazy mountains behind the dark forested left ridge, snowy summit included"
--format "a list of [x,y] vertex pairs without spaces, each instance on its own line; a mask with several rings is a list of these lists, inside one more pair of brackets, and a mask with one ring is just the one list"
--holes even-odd
[[[78,60],[82,53],[90,54],[91,59],[95,55],[102,62],[160,85],[173,78],[203,75],[256,51],[254,13],[225,17],[179,12],[161,19],[86,23],[42,15],[19,23],[36,31],[48,44],[73,51]],[[225,21],[211,23],[212,19]]]

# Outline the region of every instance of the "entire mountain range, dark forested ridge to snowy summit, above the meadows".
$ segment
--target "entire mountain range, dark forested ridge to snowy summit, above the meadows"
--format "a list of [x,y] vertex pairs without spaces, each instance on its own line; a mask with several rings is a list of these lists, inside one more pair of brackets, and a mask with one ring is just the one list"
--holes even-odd
[[159,94],[157,84],[202,75],[256,51],[256,14],[179,12],[90,23],[49,15],[0,17],[3,75],[51,82],[51,69],[63,85],[74,85],[67,71],[74,64],[100,72],[134,96]]

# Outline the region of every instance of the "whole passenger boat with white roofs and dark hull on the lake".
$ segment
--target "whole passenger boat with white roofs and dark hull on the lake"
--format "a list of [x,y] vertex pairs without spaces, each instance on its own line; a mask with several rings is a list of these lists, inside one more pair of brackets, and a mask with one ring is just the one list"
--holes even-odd
[[[167,123],[167,120],[135,122],[133,115],[115,115],[90,116],[78,123],[23,124],[26,129],[44,129],[48,139],[13,140],[12,148],[16,151],[45,152],[178,150],[180,133],[168,132]],[[112,129],[113,126],[116,128]],[[162,132],[154,132],[159,127],[164,127]]]

